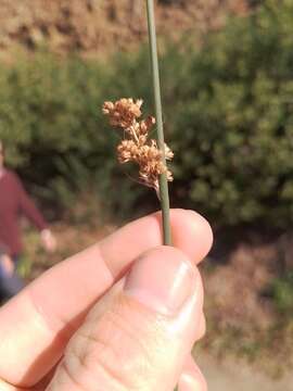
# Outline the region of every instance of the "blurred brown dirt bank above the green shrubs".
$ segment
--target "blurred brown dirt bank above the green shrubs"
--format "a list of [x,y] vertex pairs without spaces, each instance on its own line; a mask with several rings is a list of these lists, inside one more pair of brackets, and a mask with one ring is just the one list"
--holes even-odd
[[[39,47],[101,55],[129,50],[146,37],[144,0],[0,0],[0,53]],[[246,0],[157,1],[158,34],[206,31],[228,12],[245,13]]]

